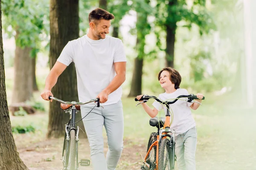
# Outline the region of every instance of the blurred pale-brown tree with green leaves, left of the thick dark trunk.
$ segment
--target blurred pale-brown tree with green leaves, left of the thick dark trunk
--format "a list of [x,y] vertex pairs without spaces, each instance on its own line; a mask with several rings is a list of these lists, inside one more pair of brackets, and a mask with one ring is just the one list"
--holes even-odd
[[[41,2],[41,5],[37,5]],[[5,31],[9,37],[15,37],[15,81],[12,103],[25,102],[32,97],[35,85],[35,51],[39,51],[46,1],[20,0],[10,3],[3,1],[3,13],[6,17]],[[11,29],[10,29],[11,28]],[[39,35],[39,36],[38,36]],[[34,72],[33,72],[34,71]]]

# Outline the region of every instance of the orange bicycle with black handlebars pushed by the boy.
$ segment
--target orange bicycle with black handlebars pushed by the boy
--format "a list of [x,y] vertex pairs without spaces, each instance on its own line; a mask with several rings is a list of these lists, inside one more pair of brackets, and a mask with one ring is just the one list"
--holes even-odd
[[[149,120],[149,124],[157,127],[157,133],[150,134],[148,140],[147,154],[143,159],[141,170],[174,170],[175,165],[175,130],[170,129],[170,111],[169,105],[177,102],[180,98],[188,98],[187,102],[196,102],[198,99],[194,94],[180,95],[170,102],[163,102],[155,96],[143,95],[141,99],[135,98],[140,103],[148,102],[148,99],[155,99],[157,102],[166,105],[166,117],[154,117]],[[203,97],[204,99],[204,97]],[[199,103],[199,102],[198,102]],[[136,105],[136,106],[137,106]],[[163,129],[161,129],[163,127]],[[169,139],[167,138],[169,137]]]

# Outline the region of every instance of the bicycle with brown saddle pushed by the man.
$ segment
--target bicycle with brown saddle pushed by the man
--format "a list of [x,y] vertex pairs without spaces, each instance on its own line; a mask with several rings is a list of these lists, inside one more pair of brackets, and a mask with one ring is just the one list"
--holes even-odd
[[[87,102],[64,102],[52,96],[49,96],[49,99],[60,102],[61,108],[66,113],[70,114],[69,122],[67,123],[67,125],[65,125],[66,133],[64,137],[64,144],[63,144],[63,150],[62,150],[62,162],[63,162],[63,168],[64,168],[63,170],[78,170],[79,163],[81,166],[89,166],[90,160],[88,159],[81,159],[80,161],[78,160],[79,127],[76,126],[76,123],[81,121],[83,118],[75,122],[76,113],[77,111],[80,111],[80,105],[85,105],[87,103],[97,102],[96,106],[99,107],[99,98],[91,99],[90,101],[87,101]],[[94,108],[96,106],[94,106]],[[87,115],[89,113],[87,113]]]

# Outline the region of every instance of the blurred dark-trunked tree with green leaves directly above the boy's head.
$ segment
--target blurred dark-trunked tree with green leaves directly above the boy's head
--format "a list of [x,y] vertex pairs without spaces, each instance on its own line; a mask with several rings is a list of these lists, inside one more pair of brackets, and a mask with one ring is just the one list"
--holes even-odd
[[[190,4],[192,2],[192,4]],[[192,24],[199,26],[200,34],[214,28],[214,23],[206,8],[206,0],[158,0],[156,6],[156,26],[165,30],[166,33],[166,66],[174,67],[175,31],[177,22],[183,20],[184,27],[191,28]],[[160,34],[158,46],[160,47]]]

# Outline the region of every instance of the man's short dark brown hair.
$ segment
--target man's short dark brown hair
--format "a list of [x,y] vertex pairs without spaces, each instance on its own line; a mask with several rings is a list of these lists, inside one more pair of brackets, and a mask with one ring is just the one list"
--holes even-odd
[[90,12],[89,14],[89,23],[94,22],[97,24],[99,20],[112,20],[114,19],[115,16],[111,14],[110,12],[102,9],[102,8],[96,8],[93,11]]

